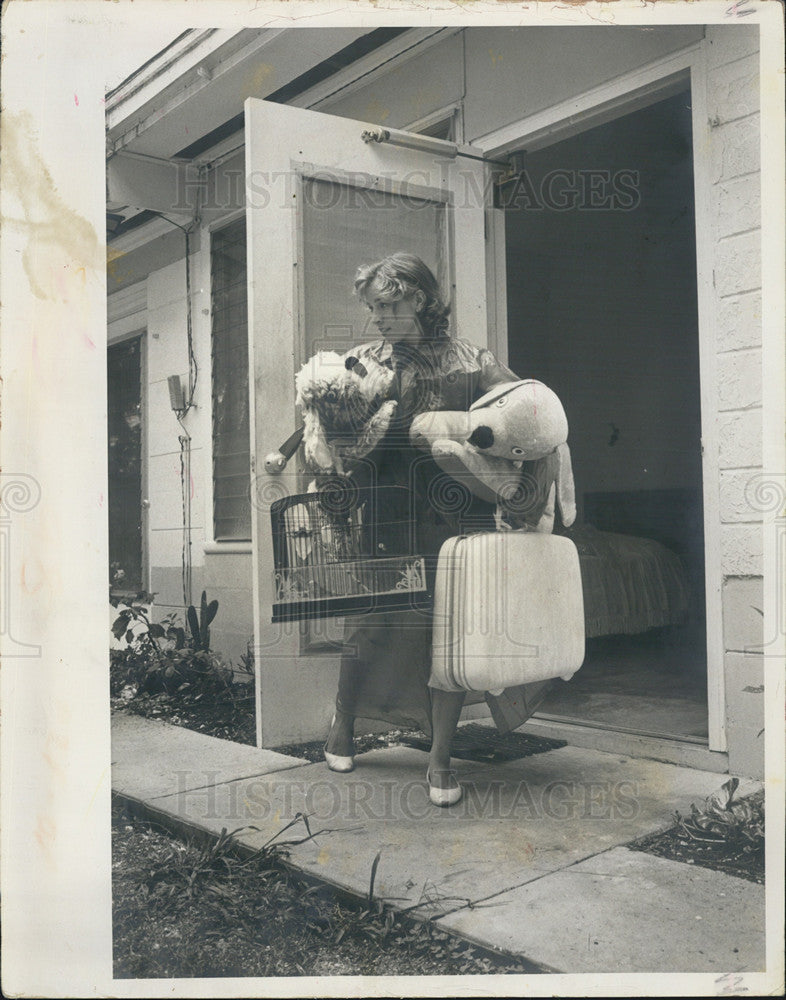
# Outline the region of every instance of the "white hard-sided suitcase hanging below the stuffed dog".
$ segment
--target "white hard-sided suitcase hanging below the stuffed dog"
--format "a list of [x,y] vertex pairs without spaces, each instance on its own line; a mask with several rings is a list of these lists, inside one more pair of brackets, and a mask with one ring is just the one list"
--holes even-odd
[[584,660],[584,601],[569,538],[500,531],[449,538],[434,589],[432,683],[491,691],[569,680]]

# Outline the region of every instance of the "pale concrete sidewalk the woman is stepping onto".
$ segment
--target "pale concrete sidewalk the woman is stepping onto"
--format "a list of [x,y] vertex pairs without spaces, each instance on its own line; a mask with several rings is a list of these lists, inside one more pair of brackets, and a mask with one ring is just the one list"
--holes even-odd
[[[132,715],[112,720],[112,789],[174,829],[258,848],[298,813],[304,872],[548,972],[761,972],[764,888],[628,849],[724,776],[561,747],[456,761],[464,797],[432,806],[427,754],[356,757],[350,774]],[[759,787],[741,782],[739,794]],[[303,836],[301,820],[283,839]]]

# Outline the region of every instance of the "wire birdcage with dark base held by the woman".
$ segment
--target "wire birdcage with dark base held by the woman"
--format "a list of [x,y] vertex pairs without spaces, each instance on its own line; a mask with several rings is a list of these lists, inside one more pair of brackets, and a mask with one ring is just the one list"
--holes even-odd
[[428,607],[412,511],[410,490],[346,478],[277,500],[273,621]]

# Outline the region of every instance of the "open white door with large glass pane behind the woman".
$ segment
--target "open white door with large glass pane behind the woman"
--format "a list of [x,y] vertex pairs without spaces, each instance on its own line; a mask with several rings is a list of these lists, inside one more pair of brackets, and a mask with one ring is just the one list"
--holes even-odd
[[294,461],[268,475],[264,456],[297,426],[296,370],[378,339],[353,294],[360,264],[422,257],[450,296],[453,335],[489,343],[488,165],[470,147],[255,99],[245,128],[257,739],[275,746],[327,731],[338,648],[271,624],[270,506],[303,480]]

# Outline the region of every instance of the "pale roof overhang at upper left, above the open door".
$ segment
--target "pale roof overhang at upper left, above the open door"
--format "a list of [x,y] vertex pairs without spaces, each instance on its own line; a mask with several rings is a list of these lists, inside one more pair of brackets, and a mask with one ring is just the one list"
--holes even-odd
[[319,85],[342,70],[413,44],[410,34],[433,33],[369,26],[184,32],[107,95],[108,231],[122,234],[151,212],[185,221],[178,199],[186,173],[242,143],[246,98],[290,101],[316,90],[318,99]]

